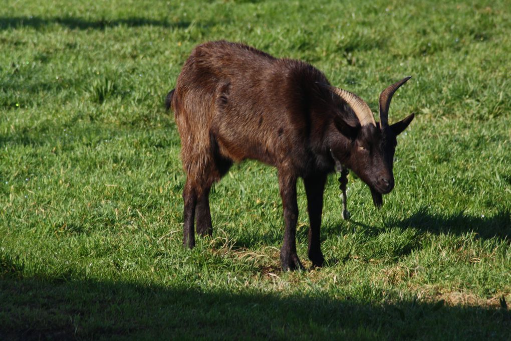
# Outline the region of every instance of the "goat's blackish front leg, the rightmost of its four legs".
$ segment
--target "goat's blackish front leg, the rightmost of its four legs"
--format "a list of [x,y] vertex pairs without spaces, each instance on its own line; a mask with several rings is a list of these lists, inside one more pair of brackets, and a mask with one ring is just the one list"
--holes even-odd
[[305,192],[307,193],[307,210],[309,211],[309,259],[312,266],[323,265],[323,254],[319,240],[321,230],[321,213],[323,211],[323,191],[327,177],[319,175],[304,179]]

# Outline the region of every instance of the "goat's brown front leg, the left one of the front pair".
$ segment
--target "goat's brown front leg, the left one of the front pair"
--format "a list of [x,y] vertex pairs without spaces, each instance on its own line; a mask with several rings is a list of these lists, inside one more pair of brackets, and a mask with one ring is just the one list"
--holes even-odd
[[281,191],[284,207],[284,242],[281,248],[282,269],[304,269],[296,254],[296,222],[298,220],[298,204],[296,203],[296,175],[292,172],[278,171],[278,186]]

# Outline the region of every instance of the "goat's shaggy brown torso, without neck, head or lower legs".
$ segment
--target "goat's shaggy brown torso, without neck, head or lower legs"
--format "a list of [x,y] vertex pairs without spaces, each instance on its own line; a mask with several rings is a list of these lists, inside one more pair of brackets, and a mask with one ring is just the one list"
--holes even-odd
[[217,41],[196,47],[172,99],[185,169],[212,148],[235,161],[254,158],[278,165],[303,160],[318,101],[316,81],[328,83],[307,63],[277,59],[243,44]]

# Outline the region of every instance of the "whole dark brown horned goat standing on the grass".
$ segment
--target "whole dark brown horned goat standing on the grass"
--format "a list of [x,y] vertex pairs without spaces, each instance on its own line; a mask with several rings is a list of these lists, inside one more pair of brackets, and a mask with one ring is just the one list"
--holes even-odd
[[274,58],[241,43],[197,46],[166,99],[174,110],[187,175],[182,194],[184,245],[195,246],[194,219],[198,234],[212,235],[211,186],[233,162],[251,158],[278,171],[285,220],[282,268],[304,268],[295,240],[298,177],[304,180],[308,201],[308,256],[313,266],[322,266],[319,232],[327,175],[336,165],[351,169],[381,207],[382,194],[394,187],[396,136],[413,119],[412,113],[388,125],[388,108],[394,92],[409,78],[381,93],[376,123],[362,99],[331,86],[308,63]]

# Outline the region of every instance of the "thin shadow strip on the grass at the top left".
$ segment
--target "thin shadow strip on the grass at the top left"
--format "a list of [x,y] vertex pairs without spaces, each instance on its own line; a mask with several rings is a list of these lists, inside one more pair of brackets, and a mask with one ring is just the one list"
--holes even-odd
[[104,30],[105,28],[108,27],[117,26],[127,27],[157,26],[164,28],[185,29],[190,27],[192,25],[192,22],[191,21],[170,22],[168,20],[155,20],[142,17],[101,19],[92,21],[80,17],[53,17],[53,18],[41,18],[37,16],[0,17],[0,30],[21,27],[32,27],[36,30],[39,30],[46,26],[55,24],[68,27],[69,29],[79,30],[87,29]]

